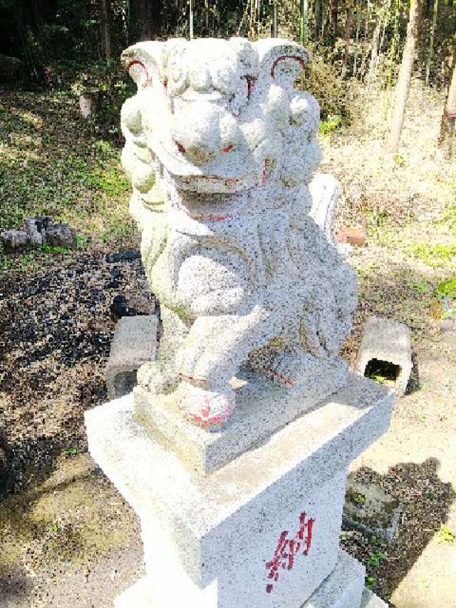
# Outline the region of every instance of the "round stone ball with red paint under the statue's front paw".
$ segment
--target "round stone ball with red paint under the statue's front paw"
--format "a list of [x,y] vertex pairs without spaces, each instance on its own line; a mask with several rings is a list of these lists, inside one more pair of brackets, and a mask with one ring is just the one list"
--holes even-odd
[[207,391],[201,386],[183,381],[178,388],[178,405],[186,420],[202,428],[223,426],[236,407],[234,391]]

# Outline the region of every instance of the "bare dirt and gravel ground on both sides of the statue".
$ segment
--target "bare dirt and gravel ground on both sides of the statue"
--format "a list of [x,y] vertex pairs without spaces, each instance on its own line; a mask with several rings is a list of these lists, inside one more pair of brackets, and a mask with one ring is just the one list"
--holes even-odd
[[[390,431],[353,465],[402,501],[398,536],[385,547],[345,530],[341,544],[395,608],[453,608],[456,344],[432,307],[438,286],[456,277],[456,167],[435,151],[438,100],[416,88],[412,100],[408,143],[393,159],[380,120],[377,136],[369,131],[380,102],[362,131],[323,140],[322,169],[346,193],[338,225],[367,232],[350,258],[359,304],[343,355],[353,363],[366,317],[379,314],[410,327],[415,364]],[[83,428],[83,411],[106,398],[113,297],[125,294],[140,312],[155,306],[139,262],[112,264],[107,252],[57,255],[0,278],[0,428],[15,492],[0,503],[1,608],[108,607],[141,572],[136,516],[86,454]]]

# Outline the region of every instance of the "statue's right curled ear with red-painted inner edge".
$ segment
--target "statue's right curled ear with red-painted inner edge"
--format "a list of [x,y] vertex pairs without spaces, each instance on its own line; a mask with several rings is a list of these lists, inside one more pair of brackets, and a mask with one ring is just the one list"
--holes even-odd
[[304,46],[281,38],[261,38],[254,43],[261,62],[261,78],[293,89],[296,78],[310,61]]

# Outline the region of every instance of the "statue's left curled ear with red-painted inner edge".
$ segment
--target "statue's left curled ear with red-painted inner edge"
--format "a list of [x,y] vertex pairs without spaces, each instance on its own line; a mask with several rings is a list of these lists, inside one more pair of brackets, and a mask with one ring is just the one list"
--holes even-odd
[[163,43],[146,41],[133,44],[123,51],[121,61],[138,86],[147,88],[152,78],[160,78],[163,63]]

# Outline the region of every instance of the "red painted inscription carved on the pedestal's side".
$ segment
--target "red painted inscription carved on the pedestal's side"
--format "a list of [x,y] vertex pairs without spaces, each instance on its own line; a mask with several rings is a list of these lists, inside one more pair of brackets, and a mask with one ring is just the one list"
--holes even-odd
[[[280,569],[291,570],[294,566],[294,558],[302,551],[302,555],[308,555],[312,546],[312,531],[315,520],[304,511],[299,515],[299,530],[294,538],[288,538],[288,530],[284,530],[277,542],[274,557],[267,562],[266,569],[269,570],[268,578],[276,582],[279,580]],[[272,583],[266,584],[266,592],[271,593],[274,589]]]

